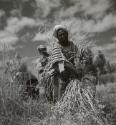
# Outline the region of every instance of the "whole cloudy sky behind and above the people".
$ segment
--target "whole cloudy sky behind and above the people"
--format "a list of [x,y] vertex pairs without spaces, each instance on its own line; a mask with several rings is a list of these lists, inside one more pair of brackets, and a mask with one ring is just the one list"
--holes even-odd
[[0,65],[3,52],[6,58],[18,52],[32,68],[37,46],[55,41],[56,24],[76,44],[88,41],[94,53],[116,62],[116,0],[0,0]]

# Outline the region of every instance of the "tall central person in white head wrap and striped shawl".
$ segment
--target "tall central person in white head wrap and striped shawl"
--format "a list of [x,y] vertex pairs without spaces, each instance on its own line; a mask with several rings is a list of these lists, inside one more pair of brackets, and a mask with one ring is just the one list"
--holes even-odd
[[79,55],[77,46],[69,40],[68,30],[62,25],[56,25],[53,30],[53,36],[58,40],[51,52],[51,64],[55,70],[52,76],[53,100],[56,102],[62,96],[66,86],[71,79],[80,79],[81,72],[76,70],[76,56]]

